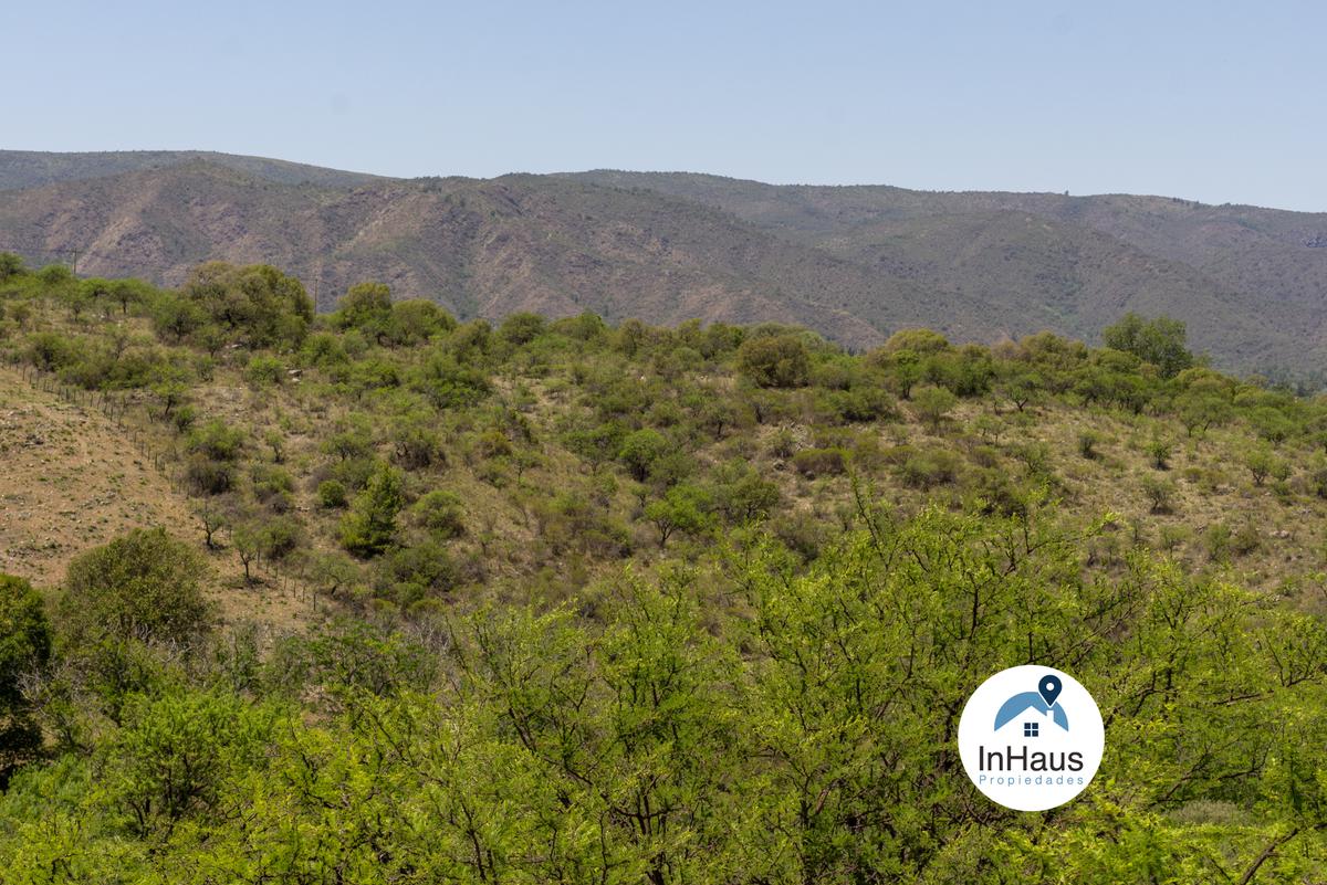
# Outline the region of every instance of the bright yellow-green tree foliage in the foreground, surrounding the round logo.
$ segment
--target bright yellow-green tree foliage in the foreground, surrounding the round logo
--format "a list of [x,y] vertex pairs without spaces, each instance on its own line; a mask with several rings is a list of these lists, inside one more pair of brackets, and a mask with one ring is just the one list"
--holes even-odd
[[[1315,881],[1327,633],[1139,555],[1082,576],[1036,521],[867,514],[718,595],[624,574],[597,620],[480,608],[259,654],[154,652],[117,721],[0,799],[13,882]],[[76,652],[70,652],[76,654]],[[150,656],[151,656],[150,654]],[[1107,755],[1016,813],[963,776],[967,694],[1078,676]]]

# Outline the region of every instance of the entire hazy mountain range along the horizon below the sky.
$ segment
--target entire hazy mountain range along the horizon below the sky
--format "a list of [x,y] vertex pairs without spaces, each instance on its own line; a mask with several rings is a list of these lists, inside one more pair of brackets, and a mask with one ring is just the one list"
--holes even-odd
[[381,280],[462,318],[772,321],[853,348],[910,326],[1093,340],[1132,310],[1182,319],[1225,368],[1316,375],[1327,356],[1327,213],[1157,196],[0,151],[0,250],[165,285],[204,260],[271,262],[320,309]]

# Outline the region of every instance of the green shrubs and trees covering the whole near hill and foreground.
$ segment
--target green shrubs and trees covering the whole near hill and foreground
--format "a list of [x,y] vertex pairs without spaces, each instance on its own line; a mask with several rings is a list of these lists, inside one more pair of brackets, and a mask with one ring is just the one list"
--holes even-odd
[[[0,578],[0,881],[1327,866],[1327,548],[1267,534],[1320,534],[1327,401],[1204,366],[1172,321],[847,354],[4,256],[0,309],[0,354],[138,409],[198,514],[60,587]],[[320,607],[223,616],[264,611],[273,563]],[[1024,662],[1107,719],[1097,780],[1044,815],[954,749]]]

